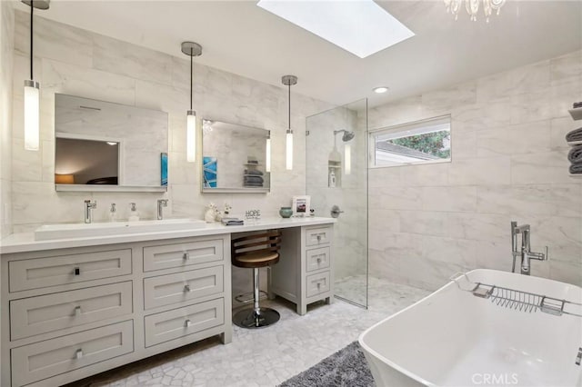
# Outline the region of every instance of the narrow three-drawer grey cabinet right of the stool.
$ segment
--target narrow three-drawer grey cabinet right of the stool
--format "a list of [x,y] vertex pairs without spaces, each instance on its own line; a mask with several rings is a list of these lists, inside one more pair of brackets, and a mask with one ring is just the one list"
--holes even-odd
[[282,232],[281,259],[271,266],[269,293],[296,303],[301,315],[307,313],[309,303],[332,303],[333,225],[286,228]]

